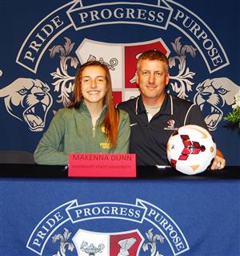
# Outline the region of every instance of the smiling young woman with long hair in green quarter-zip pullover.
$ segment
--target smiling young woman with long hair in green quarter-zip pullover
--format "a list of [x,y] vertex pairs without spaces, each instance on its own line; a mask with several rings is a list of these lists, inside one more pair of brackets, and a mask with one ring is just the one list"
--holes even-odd
[[130,119],[114,108],[106,65],[80,67],[68,108],[58,110],[34,152],[38,165],[67,165],[70,152],[127,153]]

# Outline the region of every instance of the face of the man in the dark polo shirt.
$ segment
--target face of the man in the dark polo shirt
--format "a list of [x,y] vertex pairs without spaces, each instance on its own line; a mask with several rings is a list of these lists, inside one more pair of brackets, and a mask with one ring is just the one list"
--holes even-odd
[[162,104],[169,82],[166,64],[160,60],[142,59],[139,63],[137,83],[145,104]]

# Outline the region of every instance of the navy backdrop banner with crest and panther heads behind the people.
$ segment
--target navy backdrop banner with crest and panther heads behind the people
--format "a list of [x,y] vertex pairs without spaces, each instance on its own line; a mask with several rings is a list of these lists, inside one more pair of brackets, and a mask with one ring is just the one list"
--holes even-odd
[[227,165],[240,165],[238,130],[223,120],[239,91],[239,10],[238,1],[2,0],[0,150],[34,152],[82,63],[108,65],[116,104],[138,95],[139,54],[158,49],[170,59],[168,91],[200,106]]

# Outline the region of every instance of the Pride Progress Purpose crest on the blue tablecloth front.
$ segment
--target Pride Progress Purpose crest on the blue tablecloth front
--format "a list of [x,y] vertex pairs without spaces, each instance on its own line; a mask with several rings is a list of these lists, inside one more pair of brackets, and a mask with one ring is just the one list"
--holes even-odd
[[32,228],[26,248],[38,255],[174,256],[190,250],[176,221],[139,198],[135,204],[83,205],[74,199],[50,209]]

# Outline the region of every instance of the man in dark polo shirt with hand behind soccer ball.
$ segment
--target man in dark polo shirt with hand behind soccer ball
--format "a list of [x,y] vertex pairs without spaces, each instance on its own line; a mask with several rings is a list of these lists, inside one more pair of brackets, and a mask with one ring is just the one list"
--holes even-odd
[[[166,144],[170,135],[186,124],[206,128],[197,105],[166,93],[169,83],[169,63],[160,51],[146,51],[138,58],[137,83],[140,95],[118,104],[130,115],[130,152],[136,153],[137,165],[169,165]],[[225,166],[222,152],[211,169]]]

